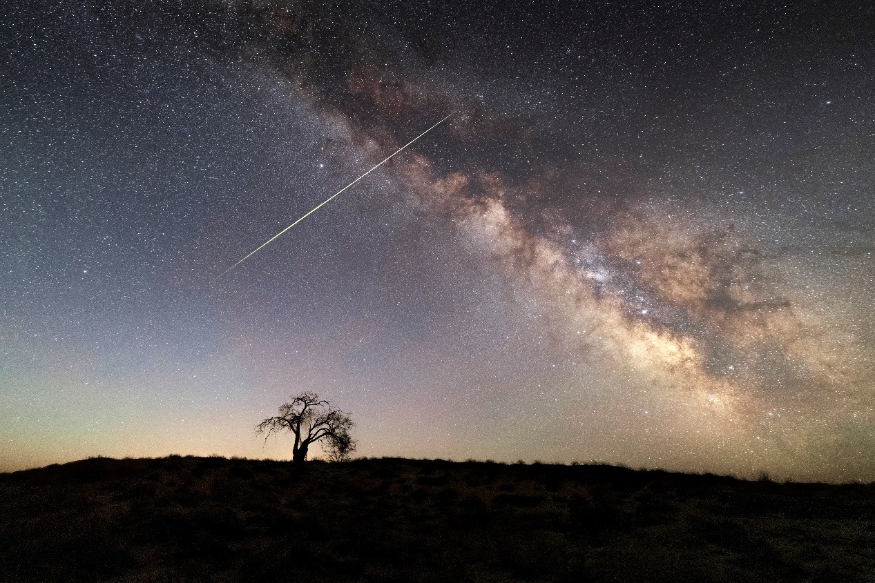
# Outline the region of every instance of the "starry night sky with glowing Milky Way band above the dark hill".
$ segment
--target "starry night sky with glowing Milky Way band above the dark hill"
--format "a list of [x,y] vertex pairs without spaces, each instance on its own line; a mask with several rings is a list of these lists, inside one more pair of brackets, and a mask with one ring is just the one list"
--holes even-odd
[[872,3],[12,4],[0,470],[288,459],[311,390],[359,455],[875,480]]

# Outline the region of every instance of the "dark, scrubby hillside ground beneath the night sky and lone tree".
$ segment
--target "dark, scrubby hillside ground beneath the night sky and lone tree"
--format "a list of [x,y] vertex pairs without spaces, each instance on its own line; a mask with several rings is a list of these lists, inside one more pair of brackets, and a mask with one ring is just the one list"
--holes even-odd
[[2,581],[875,581],[875,487],[97,458],[0,475]]

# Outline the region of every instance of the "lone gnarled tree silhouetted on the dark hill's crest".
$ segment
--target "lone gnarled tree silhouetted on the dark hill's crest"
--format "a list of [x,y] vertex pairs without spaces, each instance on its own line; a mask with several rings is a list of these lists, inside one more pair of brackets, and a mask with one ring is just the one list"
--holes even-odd
[[302,392],[292,397],[290,403],[279,407],[279,415],[263,420],[255,427],[257,434],[270,435],[288,429],[295,435],[291,448],[291,461],[304,462],[307,450],[316,441],[334,462],[349,459],[355,450],[355,441],[349,431],[355,424],[349,415],[335,409],[331,401],[319,399],[315,392]]

